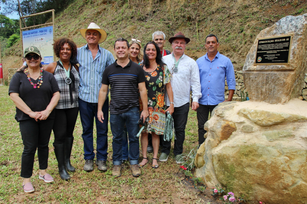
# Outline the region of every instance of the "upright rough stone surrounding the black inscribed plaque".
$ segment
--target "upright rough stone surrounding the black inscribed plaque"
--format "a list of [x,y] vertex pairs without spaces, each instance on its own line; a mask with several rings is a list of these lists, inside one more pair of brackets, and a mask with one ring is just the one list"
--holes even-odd
[[[254,65],[259,38],[293,36],[287,65]],[[270,104],[287,103],[301,94],[307,70],[307,14],[286,16],[262,30],[247,54],[243,67],[244,84],[251,100]]]

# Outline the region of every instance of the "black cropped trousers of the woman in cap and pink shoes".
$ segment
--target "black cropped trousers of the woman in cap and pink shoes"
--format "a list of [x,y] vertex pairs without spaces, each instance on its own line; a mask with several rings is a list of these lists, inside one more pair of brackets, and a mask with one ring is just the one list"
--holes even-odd
[[21,156],[21,177],[28,179],[32,176],[36,149],[39,169],[47,169],[48,144],[53,121],[54,119],[35,121],[34,118],[19,121],[19,129],[24,144],[24,151]]

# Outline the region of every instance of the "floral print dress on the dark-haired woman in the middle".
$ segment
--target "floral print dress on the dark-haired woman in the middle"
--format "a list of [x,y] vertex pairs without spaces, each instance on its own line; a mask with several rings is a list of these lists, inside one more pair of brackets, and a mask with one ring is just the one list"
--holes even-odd
[[[143,64],[141,64],[143,66]],[[164,104],[165,84],[170,83],[171,74],[166,65],[161,67],[158,65],[157,69],[152,72],[145,72],[145,81],[148,97],[148,113],[149,121],[144,127],[142,133],[154,132],[157,135],[164,134],[165,127],[165,110]],[[163,80],[163,82],[162,82]],[[140,99],[140,111],[143,110],[142,101]]]

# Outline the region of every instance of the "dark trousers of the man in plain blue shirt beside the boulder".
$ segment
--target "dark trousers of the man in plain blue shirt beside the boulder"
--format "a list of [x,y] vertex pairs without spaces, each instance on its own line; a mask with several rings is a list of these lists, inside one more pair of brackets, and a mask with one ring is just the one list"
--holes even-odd
[[197,109],[197,121],[199,127],[199,144],[203,144],[205,142],[204,135],[207,133],[204,129],[205,123],[208,121],[209,112],[211,112],[217,105],[202,105]]

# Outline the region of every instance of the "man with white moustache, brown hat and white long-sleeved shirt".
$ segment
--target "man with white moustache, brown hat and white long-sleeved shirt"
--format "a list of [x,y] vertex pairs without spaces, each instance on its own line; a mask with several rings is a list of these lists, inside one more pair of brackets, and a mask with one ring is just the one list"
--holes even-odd
[[[190,105],[190,90],[192,90],[192,110],[199,107],[198,100],[202,96],[200,84],[200,72],[196,62],[184,54],[186,44],[190,42],[181,32],[168,39],[172,44],[171,55],[163,57],[163,62],[172,73],[170,81],[174,96],[174,129],[176,137],[174,141],[174,156],[177,164],[184,162],[182,156],[183,142],[185,139],[185,127],[188,120]],[[166,105],[170,106],[169,98],[166,97]],[[159,160],[166,162],[170,152],[170,141],[162,141],[161,156]]]

